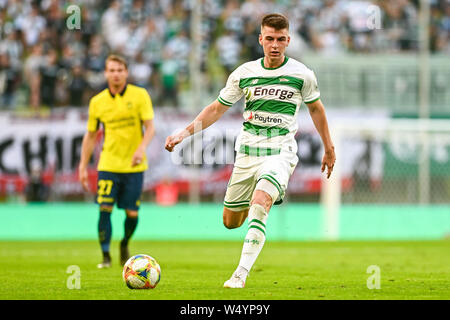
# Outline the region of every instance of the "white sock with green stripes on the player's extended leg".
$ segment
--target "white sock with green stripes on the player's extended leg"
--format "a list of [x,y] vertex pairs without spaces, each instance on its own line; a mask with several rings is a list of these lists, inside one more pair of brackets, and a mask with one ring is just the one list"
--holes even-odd
[[[244,246],[242,247],[241,260],[239,261],[238,271],[250,272],[253,264],[261,252],[266,240],[266,221],[268,214],[263,206],[253,204],[248,212],[248,231],[245,236]],[[247,276],[245,274],[245,276]]]

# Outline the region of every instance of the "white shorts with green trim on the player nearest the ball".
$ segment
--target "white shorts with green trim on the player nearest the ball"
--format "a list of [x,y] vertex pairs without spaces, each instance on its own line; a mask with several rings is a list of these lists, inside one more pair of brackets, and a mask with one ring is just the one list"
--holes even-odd
[[225,193],[224,206],[235,210],[249,207],[256,183],[260,179],[266,179],[278,189],[279,196],[275,204],[280,204],[297,162],[297,155],[288,152],[270,156],[237,153]]

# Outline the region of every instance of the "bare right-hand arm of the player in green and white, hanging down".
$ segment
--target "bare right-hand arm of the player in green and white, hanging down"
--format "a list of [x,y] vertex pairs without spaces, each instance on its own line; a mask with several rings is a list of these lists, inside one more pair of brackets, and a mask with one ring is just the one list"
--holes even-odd
[[333,171],[334,162],[336,161],[336,155],[334,153],[334,145],[331,140],[330,130],[328,129],[328,121],[327,116],[325,114],[325,107],[323,106],[322,101],[317,99],[314,102],[306,103],[309,114],[311,115],[311,119],[314,122],[314,126],[316,127],[319,135],[322,139],[323,146],[325,148],[325,154],[322,158],[322,172],[325,171],[325,167],[327,170],[327,178],[331,176],[331,172]]

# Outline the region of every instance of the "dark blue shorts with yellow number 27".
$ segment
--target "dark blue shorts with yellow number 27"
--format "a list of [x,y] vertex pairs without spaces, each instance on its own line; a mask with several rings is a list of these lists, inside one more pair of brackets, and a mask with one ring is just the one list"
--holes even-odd
[[143,172],[99,171],[96,203],[114,206],[117,202],[117,207],[120,209],[138,210],[143,182]]

